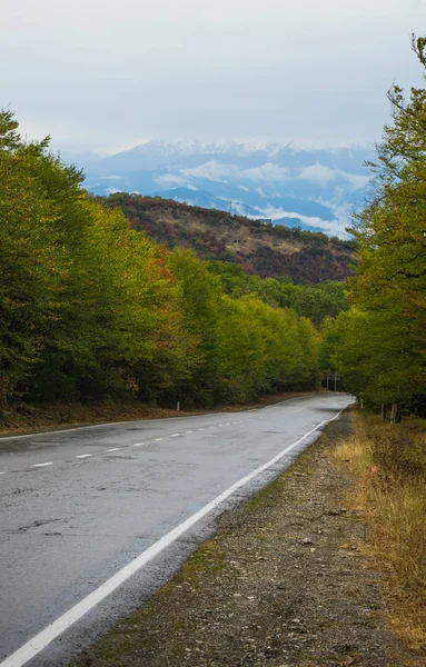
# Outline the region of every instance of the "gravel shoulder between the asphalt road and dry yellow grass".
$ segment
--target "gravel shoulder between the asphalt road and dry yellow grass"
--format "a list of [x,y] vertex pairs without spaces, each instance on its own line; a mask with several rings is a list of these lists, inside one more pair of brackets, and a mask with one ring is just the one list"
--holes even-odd
[[350,414],[270,487],[225,514],[215,537],[75,667],[425,665],[390,633],[384,575],[345,508],[354,481],[328,456]]

